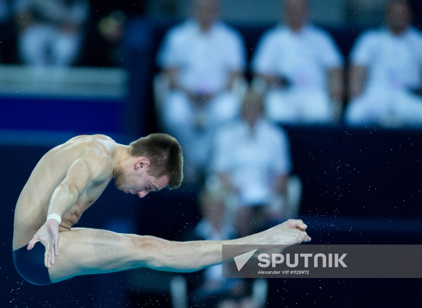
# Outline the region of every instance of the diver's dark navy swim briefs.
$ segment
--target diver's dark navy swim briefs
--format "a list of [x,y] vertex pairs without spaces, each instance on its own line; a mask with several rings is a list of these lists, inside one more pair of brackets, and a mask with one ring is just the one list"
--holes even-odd
[[51,284],[49,269],[44,265],[45,246],[41,242],[35,243],[31,250],[27,250],[27,246],[12,251],[13,263],[19,275],[37,286]]

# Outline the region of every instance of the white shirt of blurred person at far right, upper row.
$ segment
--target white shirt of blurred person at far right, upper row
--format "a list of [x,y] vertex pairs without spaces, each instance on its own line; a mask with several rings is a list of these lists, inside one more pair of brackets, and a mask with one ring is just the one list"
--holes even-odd
[[367,87],[418,89],[422,74],[422,34],[409,27],[394,35],[386,28],[367,30],[356,40],[350,59],[368,68]]

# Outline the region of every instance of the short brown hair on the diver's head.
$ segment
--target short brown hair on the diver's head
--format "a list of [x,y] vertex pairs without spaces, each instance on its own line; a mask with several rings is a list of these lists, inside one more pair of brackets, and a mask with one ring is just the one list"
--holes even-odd
[[130,155],[149,159],[148,173],[153,177],[168,175],[170,189],[183,181],[183,151],[176,138],[168,134],[150,134],[129,144]]

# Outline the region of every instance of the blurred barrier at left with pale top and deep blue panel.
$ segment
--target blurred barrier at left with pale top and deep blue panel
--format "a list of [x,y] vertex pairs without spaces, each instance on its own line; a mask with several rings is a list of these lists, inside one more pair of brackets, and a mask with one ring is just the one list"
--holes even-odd
[[122,68],[0,65],[0,129],[122,133]]

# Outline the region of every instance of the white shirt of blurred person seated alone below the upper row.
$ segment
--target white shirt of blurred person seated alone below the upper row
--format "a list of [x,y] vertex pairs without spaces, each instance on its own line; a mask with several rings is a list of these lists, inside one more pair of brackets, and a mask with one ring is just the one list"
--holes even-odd
[[258,120],[254,134],[244,121],[221,128],[214,143],[212,170],[227,172],[244,203],[265,203],[274,177],[292,170],[287,134],[266,120]]

